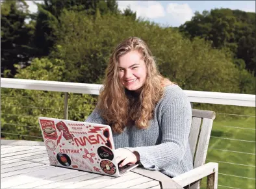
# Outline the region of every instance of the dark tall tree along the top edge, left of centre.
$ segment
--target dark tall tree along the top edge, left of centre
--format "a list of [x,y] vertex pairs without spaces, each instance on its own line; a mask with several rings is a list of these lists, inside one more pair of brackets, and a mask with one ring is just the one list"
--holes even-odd
[[34,43],[38,47],[38,57],[49,55],[55,44],[57,36],[54,33],[58,30],[59,16],[64,9],[74,10],[75,12],[83,11],[84,16],[95,15],[97,10],[100,14],[120,13],[116,1],[44,0],[44,4],[38,4],[34,39]]

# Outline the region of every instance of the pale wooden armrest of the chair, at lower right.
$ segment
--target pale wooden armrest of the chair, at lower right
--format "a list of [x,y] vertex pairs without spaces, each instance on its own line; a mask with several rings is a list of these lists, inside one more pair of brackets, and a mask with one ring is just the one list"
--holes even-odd
[[184,187],[188,184],[194,183],[195,181],[203,179],[203,177],[207,177],[212,173],[218,173],[218,163],[209,162],[203,166],[199,166],[198,168],[194,168],[193,170],[178,175],[177,177],[173,177],[172,179]]

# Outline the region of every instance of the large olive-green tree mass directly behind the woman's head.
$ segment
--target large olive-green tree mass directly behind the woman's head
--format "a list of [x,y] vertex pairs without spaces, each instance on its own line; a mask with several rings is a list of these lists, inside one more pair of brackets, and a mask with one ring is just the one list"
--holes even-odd
[[238,92],[238,69],[231,54],[209,42],[185,39],[176,30],[125,16],[84,17],[64,11],[51,57],[65,60],[65,81],[101,83],[114,47],[129,36],[149,44],[160,72],[188,90]]

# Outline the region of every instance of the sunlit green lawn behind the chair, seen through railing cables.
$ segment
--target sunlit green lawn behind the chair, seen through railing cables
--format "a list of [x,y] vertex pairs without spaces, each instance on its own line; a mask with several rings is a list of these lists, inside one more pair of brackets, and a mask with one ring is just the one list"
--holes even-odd
[[[255,116],[255,108],[249,108],[246,115]],[[218,116],[217,112],[206,160],[219,164],[218,188],[255,188],[255,117]]]

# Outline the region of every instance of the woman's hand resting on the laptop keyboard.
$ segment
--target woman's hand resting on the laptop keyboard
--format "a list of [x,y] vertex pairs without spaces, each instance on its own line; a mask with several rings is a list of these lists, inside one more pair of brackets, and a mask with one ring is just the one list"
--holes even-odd
[[116,161],[119,163],[123,160],[123,162],[119,165],[120,167],[125,166],[126,164],[135,164],[140,160],[140,155],[138,152],[129,151],[129,149],[118,148],[115,150],[116,153]]

